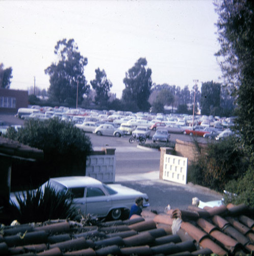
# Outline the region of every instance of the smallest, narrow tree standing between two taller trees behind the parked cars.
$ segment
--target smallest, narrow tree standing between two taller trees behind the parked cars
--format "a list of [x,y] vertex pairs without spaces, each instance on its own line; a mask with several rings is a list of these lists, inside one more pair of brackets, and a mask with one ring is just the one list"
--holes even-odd
[[95,79],[90,81],[92,88],[96,91],[95,103],[100,106],[106,106],[109,102],[112,83],[107,79],[105,70],[101,71],[97,68],[95,74]]

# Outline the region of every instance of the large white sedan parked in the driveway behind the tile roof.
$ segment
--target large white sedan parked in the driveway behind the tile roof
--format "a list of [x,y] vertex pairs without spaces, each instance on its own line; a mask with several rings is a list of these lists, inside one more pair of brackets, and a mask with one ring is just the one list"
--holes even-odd
[[[137,197],[144,199],[143,207],[149,206],[148,196],[121,184],[104,184],[88,176],[58,177],[49,179],[56,191],[70,195],[73,205],[81,214],[119,219],[123,211],[130,210]],[[48,182],[42,185],[42,191]]]

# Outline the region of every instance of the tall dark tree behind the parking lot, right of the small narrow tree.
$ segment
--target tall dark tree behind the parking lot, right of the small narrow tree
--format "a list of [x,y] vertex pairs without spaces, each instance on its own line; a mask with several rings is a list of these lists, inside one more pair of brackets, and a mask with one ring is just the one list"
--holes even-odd
[[136,105],[139,110],[147,111],[150,108],[148,98],[151,90],[151,69],[147,68],[145,58],[139,58],[134,67],[125,73],[122,100],[126,105]]

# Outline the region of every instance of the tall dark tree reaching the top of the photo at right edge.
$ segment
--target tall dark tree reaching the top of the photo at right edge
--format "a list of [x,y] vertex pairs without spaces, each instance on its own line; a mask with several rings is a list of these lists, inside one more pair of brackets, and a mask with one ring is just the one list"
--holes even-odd
[[254,2],[216,1],[220,61],[225,84],[237,98],[238,130],[254,151]]

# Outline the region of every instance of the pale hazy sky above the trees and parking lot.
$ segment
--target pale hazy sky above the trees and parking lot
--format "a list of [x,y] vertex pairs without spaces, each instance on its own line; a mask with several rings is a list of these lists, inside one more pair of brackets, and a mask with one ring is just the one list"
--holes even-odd
[[153,83],[191,90],[197,79],[200,89],[221,81],[217,18],[212,0],[0,0],[0,63],[13,69],[10,89],[47,90],[57,41],[73,38],[88,58],[87,81],[104,69],[118,98],[140,57]]

